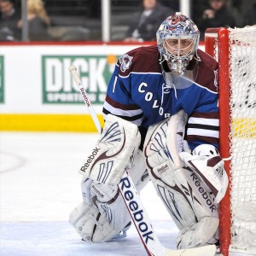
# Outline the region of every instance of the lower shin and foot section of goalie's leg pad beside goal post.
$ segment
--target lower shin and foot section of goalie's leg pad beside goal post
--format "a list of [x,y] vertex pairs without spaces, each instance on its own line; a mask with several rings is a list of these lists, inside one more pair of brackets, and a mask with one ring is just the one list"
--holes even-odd
[[200,178],[185,168],[162,178],[154,172],[149,174],[160,199],[181,230],[177,237],[178,248],[198,247],[210,240],[216,242],[218,206]]

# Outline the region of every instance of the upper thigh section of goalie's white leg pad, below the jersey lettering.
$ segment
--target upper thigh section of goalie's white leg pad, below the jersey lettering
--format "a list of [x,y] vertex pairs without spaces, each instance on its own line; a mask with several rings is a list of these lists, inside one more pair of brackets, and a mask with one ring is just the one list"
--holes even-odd
[[143,151],[148,169],[152,169],[156,176],[168,177],[183,167],[178,152],[187,148],[183,140],[186,121],[187,114],[181,110],[149,127]]

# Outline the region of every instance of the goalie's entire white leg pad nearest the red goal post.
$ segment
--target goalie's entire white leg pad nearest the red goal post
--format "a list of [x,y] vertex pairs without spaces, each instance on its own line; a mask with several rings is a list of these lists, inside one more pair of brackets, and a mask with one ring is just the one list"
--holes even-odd
[[[215,241],[218,207],[200,177],[189,168],[183,168],[179,153],[188,150],[183,142],[186,119],[186,114],[181,111],[150,127],[144,155],[154,188],[181,230],[179,247],[197,247],[209,240]],[[207,230],[206,224],[211,224],[211,229]],[[201,231],[202,227],[207,230],[207,236]],[[193,239],[188,240],[186,236]]]

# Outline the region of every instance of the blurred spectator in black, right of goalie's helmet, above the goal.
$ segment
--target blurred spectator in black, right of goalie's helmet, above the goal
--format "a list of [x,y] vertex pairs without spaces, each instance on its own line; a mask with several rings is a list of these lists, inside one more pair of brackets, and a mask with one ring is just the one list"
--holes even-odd
[[198,20],[198,28],[201,31],[201,40],[209,27],[235,27],[236,20],[227,6],[227,0],[209,0],[209,8],[203,11],[201,19]]

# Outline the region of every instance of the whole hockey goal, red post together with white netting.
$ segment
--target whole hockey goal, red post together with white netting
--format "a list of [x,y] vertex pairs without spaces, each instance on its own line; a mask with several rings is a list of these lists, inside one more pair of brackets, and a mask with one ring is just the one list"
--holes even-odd
[[220,153],[230,186],[219,205],[220,250],[256,254],[256,26],[209,28],[218,61]]

